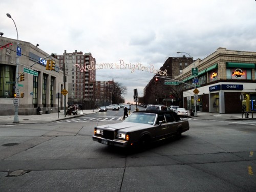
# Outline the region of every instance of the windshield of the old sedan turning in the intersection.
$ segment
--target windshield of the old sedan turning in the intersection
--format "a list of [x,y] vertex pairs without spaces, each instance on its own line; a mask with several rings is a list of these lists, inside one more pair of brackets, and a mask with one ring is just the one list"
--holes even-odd
[[156,114],[151,113],[132,113],[129,117],[127,117],[125,122],[132,123],[144,123],[153,125],[156,119]]

